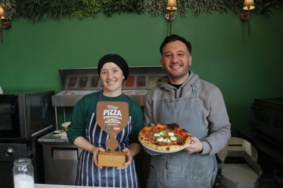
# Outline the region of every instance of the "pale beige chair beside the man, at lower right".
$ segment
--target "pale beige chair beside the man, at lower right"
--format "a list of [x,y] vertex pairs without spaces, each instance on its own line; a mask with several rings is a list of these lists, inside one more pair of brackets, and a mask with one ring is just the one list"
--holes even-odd
[[[256,148],[251,143],[244,139],[231,137],[217,156],[222,163],[217,164],[218,171],[214,188],[256,188],[259,186],[262,171],[261,166],[257,164]],[[230,157],[233,157],[233,162],[227,163]],[[240,163],[237,162],[239,160],[237,157],[240,157]]]

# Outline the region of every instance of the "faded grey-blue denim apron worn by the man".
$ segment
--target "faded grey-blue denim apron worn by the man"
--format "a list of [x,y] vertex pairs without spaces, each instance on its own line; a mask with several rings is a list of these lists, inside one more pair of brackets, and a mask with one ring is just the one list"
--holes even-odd
[[[157,109],[158,123],[177,123],[199,140],[205,132],[196,81],[194,95],[178,99],[164,99],[163,91]],[[148,187],[212,187],[217,173],[215,155],[187,154],[184,150],[152,156]],[[155,166],[155,169],[154,167]]]

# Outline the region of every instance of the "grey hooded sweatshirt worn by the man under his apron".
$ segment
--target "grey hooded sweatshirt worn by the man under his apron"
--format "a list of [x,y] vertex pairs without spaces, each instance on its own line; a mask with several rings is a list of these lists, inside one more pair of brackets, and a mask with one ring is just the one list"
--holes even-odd
[[[152,122],[158,123],[157,106],[163,89],[165,89],[164,99],[189,97],[193,95],[191,84],[193,84],[194,81],[196,81],[198,88],[203,124],[206,132],[208,132],[208,136],[201,140],[203,143],[203,152],[201,155],[213,155],[226,146],[228,139],[231,137],[231,124],[229,123],[223,95],[219,88],[207,81],[198,79],[198,75],[194,74],[191,70],[189,70],[189,78],[184,81],[179,89],[168,84],[168,76],[157,81],[157,86],[154,86],[154,88],[147,93],[144,125]],[[150,155],[157,155],[150,150],[145,149],[145,151]]]

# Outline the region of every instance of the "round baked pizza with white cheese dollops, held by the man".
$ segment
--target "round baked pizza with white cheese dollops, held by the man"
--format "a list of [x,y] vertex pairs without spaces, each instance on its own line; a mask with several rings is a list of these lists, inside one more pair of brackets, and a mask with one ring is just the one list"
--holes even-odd
[[191,134],[176,123],[150,123],[140,130],[138,139],[154,150],[171,152],[184,149],[191,142]]

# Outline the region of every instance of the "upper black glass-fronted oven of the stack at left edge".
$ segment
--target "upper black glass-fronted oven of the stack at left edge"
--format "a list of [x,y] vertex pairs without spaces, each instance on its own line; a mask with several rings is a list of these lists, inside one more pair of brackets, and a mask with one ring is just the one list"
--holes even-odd
[[54,93],[45,91],[0,94],[0,139],[29,139],[53,127]]

